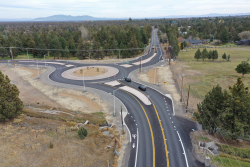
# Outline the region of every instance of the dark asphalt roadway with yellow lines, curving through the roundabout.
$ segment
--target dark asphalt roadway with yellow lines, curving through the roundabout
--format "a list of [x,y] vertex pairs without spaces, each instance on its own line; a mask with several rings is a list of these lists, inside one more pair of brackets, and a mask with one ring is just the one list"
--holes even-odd
[[[162,60],[162,51],[159,46],[157,30],[153,30],[151,39],[151,45],[156,47],[152,49],[151,46],[148,54],[143,56],[142,60],[151,57],[154,53],[157,53],[157,55],[150,62],[143,64],[142,68],[143,66],[154,65]],[[132,65],[132,63],[138,62],[139,60],[140,58],[128,64]],[[32,64],[32,62],[23,62],[22,64]],[[73,62],[70,64],[76,65],[77,67],[96,65]],[[112,93],[113,90],[124,85],[138,89],[139,84],[135,82],[125,82],[124,77],[128,76],[129,73],[134,70],[138,70],[139,72],[140,66],[125,68],[120,66],[121,64],[124,63],[98,64],[100,66],[115,67],[119,70],[119,73],[110,78],[85,81],[86,87],[100,89],[108,93]],[[41,65],[44,65],[44,63]],[[62,68],[61,65],[48,65],[55,67],[55,71],[49,75],[51,80],[72,85],[83,85],[83,81],[70,80],[61,76],[65,70],[73,67]],[[105,85],[105,82],[114,80],[118,80],[121,84],[114,87]],[[132,139],[128,166],[204,166],[192,156],[192,145],[189,138],[189,132],[191,129],[196,129],[194,123],[174,116],[171,100],[160,92],[148,87],[147,91],[143,93],[149,97],[152,105],[145,105],[140,99],[128,92],[122,90],[115,92],[115,96],[124,103],[129,113],[125,118],[125,123],[131,132]]]

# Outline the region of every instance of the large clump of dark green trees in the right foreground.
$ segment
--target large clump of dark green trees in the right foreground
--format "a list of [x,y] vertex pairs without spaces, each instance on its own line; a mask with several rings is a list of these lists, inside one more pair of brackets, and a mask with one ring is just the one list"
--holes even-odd
[[241,78],[229,90],[213,87],[197,108],[196,120],[212,134],[219,131],[234,140],[250,134],[250,94]]

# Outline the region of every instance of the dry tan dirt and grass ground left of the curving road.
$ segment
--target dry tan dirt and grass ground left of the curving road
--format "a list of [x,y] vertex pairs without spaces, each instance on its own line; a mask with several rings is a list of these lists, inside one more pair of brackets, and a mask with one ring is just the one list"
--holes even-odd
[[[0,70],[17,85],[25,106],[15,124],[0,122],[0,166],[106,167],[121,163],[120,132],[116,126],[99,130],[106,119],[112,122],[112,112],[98,95],[46,85],[36,79],[35,68],[0,65]],[[85,125],[88,136],[80,140],[77,123],[86,120],[90,122]],[[119,159],[113,157],[114,149]]]

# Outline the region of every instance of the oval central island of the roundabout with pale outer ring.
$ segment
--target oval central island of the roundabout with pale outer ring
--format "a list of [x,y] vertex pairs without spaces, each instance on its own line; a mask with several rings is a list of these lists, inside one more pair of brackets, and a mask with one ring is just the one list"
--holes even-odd
[[66,70],[62,77],[71,80],[98,80],[112,77],[119,73],[119,70],[110,66],[83,66]]

